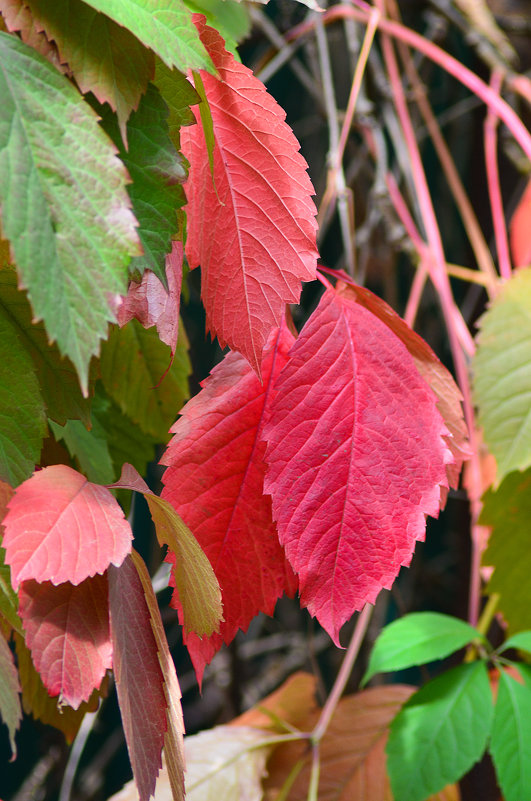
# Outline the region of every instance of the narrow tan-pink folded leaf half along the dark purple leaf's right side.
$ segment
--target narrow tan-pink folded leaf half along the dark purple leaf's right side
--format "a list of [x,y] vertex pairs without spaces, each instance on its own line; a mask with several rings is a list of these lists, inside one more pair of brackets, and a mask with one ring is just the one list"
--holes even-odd
[[166,720],[168,723],[164,738],[164,756],[166,758],[173,801],[181,801],[181,799],[184,799],[184,722],[181,708],[181,690],[162,625],[157,598],[153,591],[146,565],[136,551],[132,552],[131,558],[142,583],[144,598],[149,610],[151,628],[157,643],[157,654],[164,678]]

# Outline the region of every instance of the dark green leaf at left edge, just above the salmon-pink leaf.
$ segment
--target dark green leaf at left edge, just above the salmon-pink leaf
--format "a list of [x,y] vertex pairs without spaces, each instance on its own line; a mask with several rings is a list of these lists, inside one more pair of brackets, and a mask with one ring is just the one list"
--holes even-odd
[[0,316],[0,480],[16,487],[39,461],[46,433],[44,402],[31,358]]

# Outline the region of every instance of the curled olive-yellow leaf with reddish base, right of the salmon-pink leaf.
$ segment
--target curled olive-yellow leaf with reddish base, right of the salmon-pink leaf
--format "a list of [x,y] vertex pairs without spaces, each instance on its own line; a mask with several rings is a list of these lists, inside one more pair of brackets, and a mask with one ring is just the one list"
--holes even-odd
[[219,631],[222,620],[221,593],[210,562],[196,538],[173,506],[155,495],[129,464],[124,464],[120,480],[110,487],[141,492],[146,499],[157,539],[172,553],[173,586],[182,603],[182,624],[186,632],[209,636]]

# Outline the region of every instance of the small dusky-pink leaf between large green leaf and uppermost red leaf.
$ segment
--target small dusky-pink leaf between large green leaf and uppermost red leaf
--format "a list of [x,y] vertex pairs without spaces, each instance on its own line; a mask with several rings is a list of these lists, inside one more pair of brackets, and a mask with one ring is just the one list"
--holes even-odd
[[136,318],[144,328],[157,326],[159,337],[171,348],[172,354],[177,347],[179,333],[179,304],[181,297],[181,281],[183,272],[183,245],[174,242],[171,253],[166,256],[166,277],[168,291],[151,270],[146,270],[142,281],[137,284],[131,281],[125,298],[116,296],[114,311],[120,328]]

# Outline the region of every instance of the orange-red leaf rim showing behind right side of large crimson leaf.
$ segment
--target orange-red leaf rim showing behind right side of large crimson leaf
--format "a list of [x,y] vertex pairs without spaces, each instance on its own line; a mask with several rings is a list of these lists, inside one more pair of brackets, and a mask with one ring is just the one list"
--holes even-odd
[[[415,333],[384,300],[361,286],[340,283],[336,289],[340,295],[355,300],[379,317],[397,335],[413,357],[420,375],[435,393],[437,408],[448,429],[445,441],[454,457],[446,465],[448,483],[450,487],[457,489],[463,461],[470,456],[468,431],[461,407],[463,396],[459,387],[428,343]],[[445,499],[446,487],[441,487],[441,500]]]

